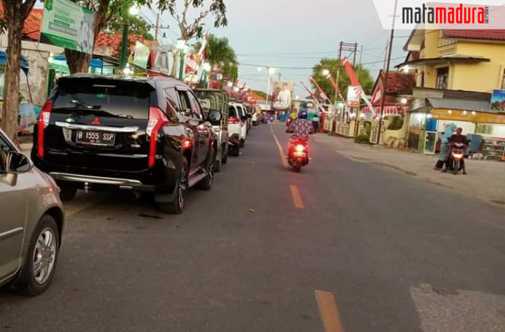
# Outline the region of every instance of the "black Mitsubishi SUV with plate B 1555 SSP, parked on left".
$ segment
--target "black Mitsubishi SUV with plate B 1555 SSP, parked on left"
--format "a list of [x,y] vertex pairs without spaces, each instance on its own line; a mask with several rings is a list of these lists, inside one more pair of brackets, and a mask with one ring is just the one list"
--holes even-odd
[[214,141],[196,96],[178,80],[77,74],[60,78],[44,104],[32,158],[64,201],[77,189],[118,187],[152,192],[160,210],[178,214],[189,187],[212,187]]

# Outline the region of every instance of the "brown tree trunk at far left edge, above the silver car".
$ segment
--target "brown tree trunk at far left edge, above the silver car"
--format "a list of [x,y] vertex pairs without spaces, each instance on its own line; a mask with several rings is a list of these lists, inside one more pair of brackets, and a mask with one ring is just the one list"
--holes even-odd
[[24,21],[35,5],[35,0],[2,0],[3,26],[7,29],[7,66],[3,87],[1,125],[7,136],[17,140],[19,111],[19,71],[21,69],[21,33]]

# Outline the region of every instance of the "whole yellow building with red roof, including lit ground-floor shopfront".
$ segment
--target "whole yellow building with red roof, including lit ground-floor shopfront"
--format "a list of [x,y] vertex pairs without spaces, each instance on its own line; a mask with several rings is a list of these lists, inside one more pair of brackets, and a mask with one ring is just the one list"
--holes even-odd
[[488,144],[505,150],[505,113],[490,109],[493,90],[505,89],[505,30],[413,30],[405,50],[398,67],[416,73],[418,88],[407,122],[409,146],[435,153],[441,132],[453,123],[479,135],[482,143],[473,149],[490,156]]

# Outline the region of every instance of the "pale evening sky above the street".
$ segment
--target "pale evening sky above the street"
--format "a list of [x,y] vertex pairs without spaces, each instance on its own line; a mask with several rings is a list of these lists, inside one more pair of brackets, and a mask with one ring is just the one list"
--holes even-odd
[[[311,69],[307,68],[317,64],[321,57],[337,57],[340,41],[363,46],[362,63],[367,64],[374,79],[383,66],[389,30],[380,25],[372,0],[225,1],[228,26],[219,29],[212,26],[210,32],[230,39],[241,63],[239,80],[241,84],[247,82],[251,89],[266,91],[267,74],[246,64],[297,67],[279,68],[277,79],[280,72],[282,80],[295,81],[296,93],[306,97],[308,93],[299,81],[310,88]],[[156,22],[154,12],[143,8],[143,15]],[[167,37],[176,40],[179,33],[175,21],[168,13],[162,18],[164,24],[171,26]],[[403,30],[396,35],[407,33]],[[405,41],[405,37],[394,41],[393,58],[406,55]],[[392,65],[400,62],[403,59],[392,61]]]

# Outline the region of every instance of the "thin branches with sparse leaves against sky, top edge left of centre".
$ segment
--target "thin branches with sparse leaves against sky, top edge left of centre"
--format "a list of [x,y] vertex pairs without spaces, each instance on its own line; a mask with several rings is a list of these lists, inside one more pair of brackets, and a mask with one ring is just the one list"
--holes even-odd
[[[188,23],[190,21],[188,18],[190,8],[200,11],[191,24]],[[168,10],[170,15],[176,19],[183,40],[203,37],[203,26],[205,25],[203,20],[209,15],[214,17],[215,28],[228,25],[224,0],[183,0],[181,13],[176,10],[176,0],[163,0],[158,2],[158,9]]]

